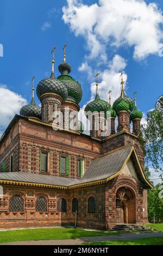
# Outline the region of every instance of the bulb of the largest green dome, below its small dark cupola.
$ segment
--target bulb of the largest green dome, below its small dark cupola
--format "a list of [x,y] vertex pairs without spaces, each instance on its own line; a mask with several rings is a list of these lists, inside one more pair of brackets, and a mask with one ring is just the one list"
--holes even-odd
[[82,87],[80,84],[68,75],[61,75],[58,77],[58,80],[67,88],[68,95],[66,100],[71,100],[79,104],[83,96]]

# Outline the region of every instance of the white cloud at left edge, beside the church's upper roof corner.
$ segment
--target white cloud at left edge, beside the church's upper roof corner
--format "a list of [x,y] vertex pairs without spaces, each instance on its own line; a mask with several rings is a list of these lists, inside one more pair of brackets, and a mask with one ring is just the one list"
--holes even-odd
[[5,127],[9,124],[15,114],[23,105],[27,104],[27,100],[7,88],[4,84],[0,84],[0,136]]

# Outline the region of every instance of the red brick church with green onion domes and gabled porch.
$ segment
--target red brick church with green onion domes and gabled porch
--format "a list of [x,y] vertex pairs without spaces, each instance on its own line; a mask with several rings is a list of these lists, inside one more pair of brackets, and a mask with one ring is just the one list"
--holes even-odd
[[152,185],[144,173],[136,100],[124,93],[122,78],[121,95],[111,106],[100,98],[97,81],[96,98],[85,108],[90,122],[85,135],[78,120],[82,87],[69,75],[65,55],[59,71],[55,78],[53,55],[51,77],[37,85],[41,107],[33,80],[31,103],[1,138],[0,228],[147,223]]

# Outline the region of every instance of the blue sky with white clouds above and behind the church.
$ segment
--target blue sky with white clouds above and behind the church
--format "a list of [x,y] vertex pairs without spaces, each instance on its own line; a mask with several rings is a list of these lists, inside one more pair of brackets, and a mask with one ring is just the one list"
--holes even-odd
[[[163,2],[155,1],[156,9],[148,5],[153,1],[127,0],[134,2],[131,6],[124,5],[125,0],[118,0],[122,4],[118,6],[120,2],[116,1],[0,0],[0,44],[4,47],[0,57],[0,133],[20,107],[30,102],[32,77],[35,75],[36,87],[51,74],[53,45],[57,46],[55,75],[59,76],[62,48],[67,44],[71,76],[83,87],[81,108],[95,96],[93,81],[97,71],[101,72],[99,92],[103,99],[107,100],[109,89],[113,100],[118,97],[122,70],[127,74],[127,95],[137,92],[138,106],[145,114],[154,107],[163,84],[163,58],[158,54]],[[137,2],[141,2],[140,6]],[[112,9],[111,3],[115,5]],[[123,15],[119,20],[118,9]],[[140,22],[138,28],[137,23],[132,23],[134,19]],[[36,96],[35,100],[40,104]]]

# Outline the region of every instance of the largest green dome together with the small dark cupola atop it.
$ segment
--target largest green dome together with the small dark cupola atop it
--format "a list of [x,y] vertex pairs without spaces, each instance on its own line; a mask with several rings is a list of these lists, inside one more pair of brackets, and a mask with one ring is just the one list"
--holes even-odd
[[83,96],[82,87],[78,81],[74,80],[71,76],[68,75],[71,72],[70,64],[63,62],[59,65],[58,69],[61,73],[61,76],[59,76],[57,79],[67,88],[68,96],[66,100],[74,101],[79,104]]

